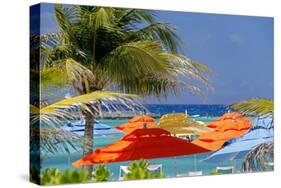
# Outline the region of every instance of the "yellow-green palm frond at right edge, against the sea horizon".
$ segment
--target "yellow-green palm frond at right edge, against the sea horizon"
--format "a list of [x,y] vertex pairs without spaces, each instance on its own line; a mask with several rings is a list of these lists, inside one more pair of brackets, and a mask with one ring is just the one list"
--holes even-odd
[[256,98],[232,104],[230,108],[247,116],[273,117],[274,104],[272,100]]

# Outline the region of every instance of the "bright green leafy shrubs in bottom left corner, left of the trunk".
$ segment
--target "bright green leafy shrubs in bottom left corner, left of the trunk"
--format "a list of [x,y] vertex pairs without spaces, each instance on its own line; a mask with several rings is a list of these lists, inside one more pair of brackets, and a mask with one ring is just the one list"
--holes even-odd
[[47,168],[41,172],[40,182],[42,185],[89,182],[89,174],[83,170],[60,171],[57,168]]

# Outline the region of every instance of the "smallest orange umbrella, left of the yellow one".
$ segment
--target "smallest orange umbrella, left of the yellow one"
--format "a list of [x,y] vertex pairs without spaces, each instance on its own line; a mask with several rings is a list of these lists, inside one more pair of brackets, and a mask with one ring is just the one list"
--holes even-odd
[[115,128],[127,134],[136,129],[143,128],[144,126],[151,127],[154,125],[156,125],[155,120],[152,117],[145,115],[135,116],[130,119],[127,123],[119,125]]

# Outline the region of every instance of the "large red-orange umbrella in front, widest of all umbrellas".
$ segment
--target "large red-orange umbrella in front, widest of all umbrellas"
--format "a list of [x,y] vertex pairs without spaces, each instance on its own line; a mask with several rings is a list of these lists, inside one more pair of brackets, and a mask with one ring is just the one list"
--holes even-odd
[[153,159],[208,152],[201,146],[170,135],[160,128],[137,129],[90,155],[72,163],[73,166],[128,160]]

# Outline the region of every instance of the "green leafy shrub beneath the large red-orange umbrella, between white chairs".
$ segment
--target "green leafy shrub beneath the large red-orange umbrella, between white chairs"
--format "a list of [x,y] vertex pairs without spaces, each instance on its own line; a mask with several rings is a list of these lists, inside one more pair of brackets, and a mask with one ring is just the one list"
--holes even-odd
[[150,172],[147,167],[149,166],[148,161],[139,160],[132,162],[128,167],[129,173],[124,175],[125,180],[136,180],[136,179],[151,179],[151,178],[164,178],[163,173]]

